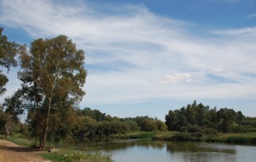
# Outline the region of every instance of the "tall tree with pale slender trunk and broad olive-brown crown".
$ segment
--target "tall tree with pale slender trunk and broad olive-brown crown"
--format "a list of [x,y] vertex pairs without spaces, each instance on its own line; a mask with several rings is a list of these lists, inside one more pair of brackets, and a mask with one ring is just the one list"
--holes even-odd
[[[49,128],[51,109],[60,110],[58,102],[65,98],[69,103],[79,103],[85,92],[86,79],[84,51],[67,36],[35,40],[29,52],[20,53],[19,79],[26,85],[37,87],[42,93],[44,129],[40,149],[44,149]],[[52,112],[54,113],[54,112]]]

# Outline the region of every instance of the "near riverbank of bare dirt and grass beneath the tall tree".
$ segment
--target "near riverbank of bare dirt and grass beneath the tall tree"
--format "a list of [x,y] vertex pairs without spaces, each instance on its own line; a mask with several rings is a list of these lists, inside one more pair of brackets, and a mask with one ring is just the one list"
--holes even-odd
[[47,152],[29,148],[31,144],[33,141],[22,138],[19,133],[12,135],[8,140],[0,135],[0,162],[113,162],[111,154],[102,152],[81,152],[72,149],[51,149],[51,152]]

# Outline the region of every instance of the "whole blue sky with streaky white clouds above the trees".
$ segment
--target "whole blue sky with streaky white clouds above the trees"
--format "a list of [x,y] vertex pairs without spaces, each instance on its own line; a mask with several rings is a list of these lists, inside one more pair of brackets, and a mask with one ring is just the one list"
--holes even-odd
[[164,121],[196,100],[256,117],[255,0],[0,0],[0,26],[28,47],[65,34],[84,50],[81,108]]

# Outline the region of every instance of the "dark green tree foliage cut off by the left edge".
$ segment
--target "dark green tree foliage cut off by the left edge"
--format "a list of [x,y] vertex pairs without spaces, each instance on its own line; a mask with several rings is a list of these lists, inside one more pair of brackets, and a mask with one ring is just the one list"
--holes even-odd
[[[0,27],[0,66],[6,68],[6,72],[10,71],[12,66],[17,66],[15,55],[18,53],[19,45],[8,41],[7,36],[2,35],[3,28]],[[0,70],[0,96],[6,91],[4,85],[8,82],[8,78]]]

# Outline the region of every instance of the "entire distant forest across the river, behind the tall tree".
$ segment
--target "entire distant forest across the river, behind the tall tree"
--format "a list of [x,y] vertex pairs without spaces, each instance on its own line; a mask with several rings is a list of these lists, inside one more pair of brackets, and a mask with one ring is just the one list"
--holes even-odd
[[[3,111],[0,110],[0,119],[1,114]],[[29,114],[26,123],[19,122],[13,131],[25,133],[30,138],[36,137],[37,140],[37,132],[41,128],[34,117]],[[187,107],[170,110],[165,119],[163,122],[148,116],[119,118],[91,108],[70,108],[67,112],[54,113],[50,116],[47,140],[60,142],[61,139],[65,139],[68,142],[72,136],[108,138],[136,131],[179,131],[193,133],[194,136],[217,135],[220,132],[256,132],[255,117],[245,117],[241,111],[236,112],[229,108],[209,108],[202,103],[197,104],[196,101]],[[4,128],[3,124],[1,128]],[[1,131],[4,133],[3,129]]]

